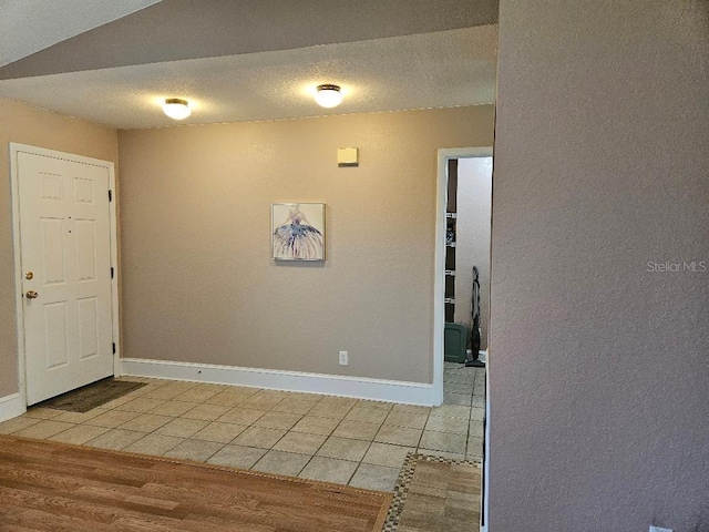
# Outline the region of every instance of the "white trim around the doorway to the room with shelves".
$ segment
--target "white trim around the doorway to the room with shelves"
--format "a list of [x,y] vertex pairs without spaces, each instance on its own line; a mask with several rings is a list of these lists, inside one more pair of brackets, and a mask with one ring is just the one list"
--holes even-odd
[[451,158],[492,157],[492,146],[439,150],[435,195],[435,263],[433,267],[433,396],[443,403],[443,331],[445,329],[445,207],[448,162]]

